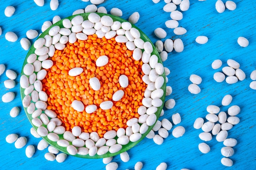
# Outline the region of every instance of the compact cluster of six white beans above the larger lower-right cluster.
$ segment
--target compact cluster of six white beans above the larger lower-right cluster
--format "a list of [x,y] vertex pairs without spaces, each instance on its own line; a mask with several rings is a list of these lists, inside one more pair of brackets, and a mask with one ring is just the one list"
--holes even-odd
[[[222,68],[222,72],[216,72],[213,75],[213,79],[216,82],[223,82],[226,79],[228,84],[234,84],[238,82],[238,80],[243,81],[245,79],[245,72],[240,69],[240,64],[235,60],[229,59],[227,60],[227,65]],[[221,60],[214,60],[211,64],[213,69],[218,69],[222,66]],[[227,75],[227,77],[226,77]]]

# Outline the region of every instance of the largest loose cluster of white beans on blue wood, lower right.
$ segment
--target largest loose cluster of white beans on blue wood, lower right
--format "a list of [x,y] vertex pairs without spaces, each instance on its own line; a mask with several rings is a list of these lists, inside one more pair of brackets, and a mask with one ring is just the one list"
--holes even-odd
[[[225,95],[222,98],[222,106],[229,106],[232,102],[231,95]],[[195,119],[193,127],[195,129],[202,129],[203,132],[199,134],[199,138],[203,141],[210,141],[212,135],[216,135],[216,140],[222,142],[224,147],[221,148],[221,154],[224,156],[221,159],[221,163],[224,166],[232,166],[233,161],[228,157],[234,155],[234,149],[232,147],[236,146],[237,141],[233,138],[227,138],[228,130],[233,128],[234,125],[240,122],[238,115],[240,113],[240,107],[237,105],[230,106],[227,113],[220,111],[220,107],[215,105],[207,106],[208,114],[205,116],[206,121],[202,117]],[[205,142],[198,145],[199,150],[206,154],[210,151],[210,147]]]

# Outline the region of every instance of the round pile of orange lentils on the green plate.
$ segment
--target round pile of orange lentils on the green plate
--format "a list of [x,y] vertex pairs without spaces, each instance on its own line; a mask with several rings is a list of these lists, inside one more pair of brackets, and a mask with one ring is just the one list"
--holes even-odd
[[[95,62],[101,55],[109,58],[108,64],[97,67]],[[43,91],[48,95],[47,109],[57,113],[66,130],[80,126],[83,132],[97,132],[100,137],[108,130],[126,128],[127,120],[139,117],[137,109],[142,106],[142,98],[146,84],[142,81],[144,75],[142,61],[132,58],[132,51],[124,43],[117,43],[115,38],[88,35],[87,40],[77,40],[74,44],[67,43],[65,49],[56,50],[51,60],[54,66],[47,70],[47,76],[42,80]],[[71,68],[81,67],[83,73],[70,76]],[[126,75],[129,85],[122,88],[119,76]],[[94,91],[89,85],[89,79],[97,77],[101,88]],[[112,95],[124,91],[121,100],[112,101]],[[86,106],[95,104],[94,113],[79,112],[72,108],[72,101],[79,100]],[[113,107],[102,110],[99,104],[111,100]]]

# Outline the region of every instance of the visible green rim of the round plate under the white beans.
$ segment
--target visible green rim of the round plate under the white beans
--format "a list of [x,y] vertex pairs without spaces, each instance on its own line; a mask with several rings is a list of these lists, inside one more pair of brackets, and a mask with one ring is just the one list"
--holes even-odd
[[[82,14],[77,14],[77,15],[81,15],[81,16],[83,16],[84,20],[87,20],[89,14],[90,14],[90,13],[82,13]],[[110,16],[110,17],[113,19],[113,21],[119,21],[119,22],[121,22],[121,23],[122,23],[122,22],[128,22],[128,21],[126,21],[126,20],[124,20],[124,19],[122,19],[122,18],[119,18],[119,17],[117,17],[117,16],[114,16],[114,15],[109,15],[109,14],[105,14],[105,13],[97,13],[97,14],[100,15],[101,17],[102,17],[103,15],[108,15],[108,16]],[[72,18],[74,18],[75,16],[76,16],[76,15],[72,15],[72,16],[67,17],[67,18],[64,18],[64,19],[72,20]],[[64,19],[63,19],[63,20],[64,20]],[[51,29],[53,26],[56,26],[56,25],[60,26],[60,28],[64,28],[64,26],[63,26],[63,24],[62,24],[62,20],[61,20],[61,21],[59,21],[59,22],[53,24],[51,27],[49,27],[49,28],[48,28],[46,31],[44,31],[38,38],[44,38],[45,35],[48,34],[49,29]],[[148,42],[150,42],[150,43],[153,45],[153,43],[150,41],[150,39],[149,39],[139,28],[137,28],[137,26],[135,26],[134,24],[132,24],[132,27],[134,27],[134,28],[136,28],[136,29],[139,30],[139,32],[140,32],[140,34],[141,34],[141,37],[140,37],[140,38],[141,38],[142,40],[144,40],[144,42],[148,41]],[[29,57],[29,55],[31,55],[32,53],[34,53],[34,51],[35,51],[35,48],[34,48],[34,46],[32,45],[31,48],[29,49],[29,52],[27,53],[26,58],[25,58],[25,61],[24,61],[23,67],[22,67],[22,73],[21,73],[21,75],[24,75],[24,73],[23,73],[23,68],[24,68],[25,64],[27,64],[27,58]],[[143,50],[143,51],[144,51],[144,50]],[[159,53],[158,53],[157,50],[155,49],[155,46],[154,46],[154,45],[153,45],[153,53],[151,53],[151,55],[153,55],[153,54],[155,54],[155,55],[158,57],[158,62],[159,62],[159,63],[162,63],[162,60],[161,60],[161,58],[160,58],[160,56],[159,56]],[[35,72],[35,73],[37,73],[37,72]],[[165,93],[166,93],[165,73],[163,73],[161,76],[164,77],[164,84],[163,84],[163,86],[162,86],[162,89],[163,89],[164,94],[165,94]],[[28,77],[28,76],[27,76],[27,77]],[[22,100],[23,100],[23,98],[25,97],[24,91],[25,91],[25,89],[20,87],[20,94],[21,94],[21,99],[22,99]],[[165,95],[163,95],[163,96],[161,97],[161,99],[162,99],[163,104],[162,104],[162,106],[160,106],[160,107],[157,109],[157,113],[155,113],[155,114],[157,115],[157,119],[159,118],[159,115],[160,115],[160,113],[161,113],[161,111],[162,111],[162,108],[163,108],[163,106],[164,106]],[[24,110],[25,110],[25,113],[26,113],[27,118],[29,119],[31,125],[37,130],[38,127],[34,126],[34,124],[32,124],[32,122],[31,122],[31,120],[33,119],[32,116],[31,116],[32,114],[27,113],[27,108],[24,108]],[[43,111],[43,113],[44,113],[44,111]],[[50,118],[49,118],[49,119],[50,119]],[[46,127],[46,125],[43,125],[43,126]],[[154,125],[153,125],[153,126],[154,126]],[[105,155],[97,155],[97,154],[96,154],[96,155],[94,155],[94,156],[76,154],[76,155],[74,155],[74,156],[76,156],[76,157],[81,157],[81,158],[97,159],[97,158],[112,157],[112,156],[118,155],[118,154],[120,154],[120,153],[122,153],[122,152],[125,152],[125,151],[129,150],[130,148],[132,148],[132,147],[135,146],[136,144],[138,144],[142,139],[144,139],[144,137],[146,137],[146,135],[147,135],[147,134],[150,132],[150,130],[153,128],[153,126],[150,126],[150,127],[148,128],[148,130],[142,135],[141,139],[139,139],[138,141],[136,141],[136,142],[131,142],[131,141],[130,141],[128,144],[123,145],[122,149],[121,149],[119,152],[116,152],[116,153],[107,152]],[[63,135],[58,135],[58,136],[59,136],[60,139],[63,139]],[[54,141],[49,140],[47,136],[46,136],[46,137],[42,137],[42,138],[45,139],[45,141],[47,141],[47,142],[48,142],[50,145],[52,145],[54,148],[60,150],[61,152],[64,152],[64,153],[70,155],[70,154],[67,152],[66,147],[61,147],[61,146],[59,146],[59,145],[57,144],[57,142],[54,142]],[[117,139],[117,137],[116,137],[116,139]],[[70,142],[70,144],[72,144],[72,142]]]

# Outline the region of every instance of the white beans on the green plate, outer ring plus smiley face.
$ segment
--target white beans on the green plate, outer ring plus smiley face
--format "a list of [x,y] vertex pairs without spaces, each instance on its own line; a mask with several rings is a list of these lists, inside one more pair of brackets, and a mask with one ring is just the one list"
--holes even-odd
[[[23,68],[20,77],[20,86],[24,88],[25,97],[22,104],[27,108],[27,113],[33,118],[32,124],[37,128],[37,133],[42,137],[48,137],[49,140],[56,142],[61,147],[66,147],[70,155],[104,155],[107,152],[115,153],[122,149],[122,145],[128,142],[135,142],[141,138],[149,126],[153,126],[157,120],[155,113],[157,108],[162,106],[160,99],[164,95],[162,86],[164,84],[164,66],[158,62],[153,52],[153,46],[150,42],[144,42],[140,38],[137,29],[132,28],[130,22],[113,21],[110,16],[104,15],[100,17],[97,13],[90,13],[88,20],[84,20],[81,15],[76,15],[72,20],[63,20],[64,28],[53,26],[49,29],[49,35],[44,38],[38,38],[34,42],[35,52],[27,58],[27,64]],[[97,26],[97,27],[96,27]],[[47,94],[42,91],[42,79],[45,78],[47,71],[53,66],[49,57],[54,55],[55,49],[63,50],[67,42],[74,43],[77,39],[86,40],[88,35],[96,33],[98,38],[105,36],[107,39],[115,37],[120,43],[126,43],[129,50],[133,50],[134,60],[142,60],[142,71],[145,75],[142,77],[147,84],[147,88],[142,99],[142,104],[138,109],[140,117],[143,119],[132,118],[127,121],[126,129],[119,128],[117,132],[110,130],[106,132],[103,138],[99,138],[97,132],[82,132],[79,126],[75,126],[71,131],[65,131],[65,127],[61,124],[61,120],[52,110],[47,110]],[[144,51],[142,51],[144,49]],[[99,62],[98,62],[99,60]],[[107,56],[101,56],[97,59],[96,65],[102,66],[108,63]],[[76,76],[81,74],[83,69],[73,68],[69,71],[69,75]],[[121,77],[122,76],[122,77]],[[128,86],[128,78],[125,75],[119,77],[121,86]],[[99,79],[92,78],[89,80],[91,88],[97,90],[100,88]],[[117,91],[119,92],[119,91]],[[115,93],[116,94],[116,93]],[[118,101],[123,97],[123,93],[113,95],[113,100]],[[116,96],[116,97],[115,97]],[[114,99],[115,98],[115,99]],[[101,109],[107,110],[112,108],[112,101],[105,101],[100,104]],[[72,107],[78,111],[88,111],[92,113],[97,106],[87,106],[84,108],[80,101],[74,100]],[[140,120],[140,121],[139,121]],[[140,124],[139,124],[140,123]],[[60,139],[58,135],[63,134],[64,139]],[[117,140],[114,139],[117,137]],[[86,146],[86,147],[84,147]]]

